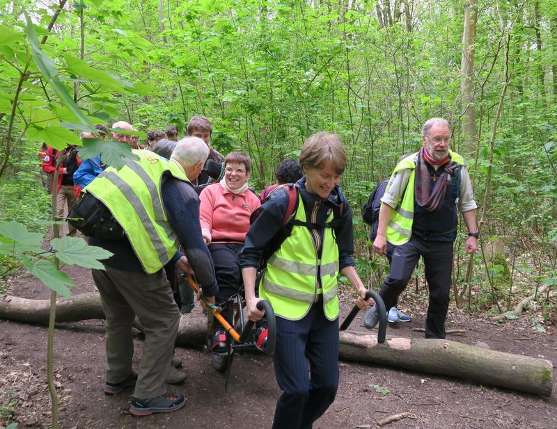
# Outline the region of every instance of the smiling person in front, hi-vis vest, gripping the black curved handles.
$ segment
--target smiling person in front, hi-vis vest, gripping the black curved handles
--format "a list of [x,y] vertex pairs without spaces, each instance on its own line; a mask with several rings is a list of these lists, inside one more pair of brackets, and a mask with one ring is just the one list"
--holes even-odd
[[291,232],[267,259],[260,298],[256,298],[257,267],[267,246],[285,228],[288,187],[278,189],[262,205],[240,255],[249,319],[258,321],[264,315],[257,308],[261,299],[271,303],[276,315],[274,368],[283,394],[276,404],[273,429],[311,428],[334,401],[339,377],[339,272],[356,289],[360,308],[372,302],[364,300],[366,288],[352,259],[352,212],[338,186],[346,167],[340,137],[324,132],[309,137],[299,163],[305,176],[295,184]]

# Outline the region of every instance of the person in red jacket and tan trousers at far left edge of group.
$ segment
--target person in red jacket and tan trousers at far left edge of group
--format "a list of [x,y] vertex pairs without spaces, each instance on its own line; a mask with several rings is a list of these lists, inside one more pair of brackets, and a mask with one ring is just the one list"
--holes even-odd
[[[58,165],[58,183],[56,184],[56,217],[63,218],[65,203],[68,203],[68,213],[70,213],[77,201],[73,175],[81,161],[77,158],[77,150],[73,145],[66,147],[62,152],[54,147],[47,147],[47,154],[42,159],[41,168],[42,171],[52,176],[52,191],[55,189],[54,172],[56,172],[58,157],[60,157],[61,163]],[[68,223],[68,236],[75,236],[76,232],[77,229]]]

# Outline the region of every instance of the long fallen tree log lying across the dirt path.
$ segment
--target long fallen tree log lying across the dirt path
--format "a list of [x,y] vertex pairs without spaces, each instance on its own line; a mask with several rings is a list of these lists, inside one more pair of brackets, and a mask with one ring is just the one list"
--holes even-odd
[[[49,307],[49,300],[2,296],[0,318],[47,324]],[[56,322],[91,318],[104,318],[98,293],[82,293],[70,300],[56,301]],[[181,318],[176,344],[203,344],[206,332],[203,318]],[[541,396],[551,396],[553,389],[553,364],[547,359],[486,350],[446,339],[387,336],[385,343],[379,344],[373,334],[340,332],[340,359],[449,375]]]

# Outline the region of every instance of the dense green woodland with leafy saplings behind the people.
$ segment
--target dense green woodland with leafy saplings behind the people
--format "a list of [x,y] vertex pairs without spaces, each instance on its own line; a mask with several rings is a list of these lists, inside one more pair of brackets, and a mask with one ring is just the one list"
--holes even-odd
[[[401,154],[421,146],[423,122],[442,116],[469,162],[482,234],[471,259],[465,234],[455,244],[456,305],[499,314],[535,295],[533,327],[556,321],[555,1],[2,0],[0,8],[3,220],[46,230],[38,148],[81,145],[91,124],[127,120],[143,133],[175,124],[183,135],[192,115],[205,115],[214,147],[251,155],[257,190],[311,133],[334,131],[350,160],[342,185],[357,268],[377,289],[386,262],[370,254],[361,205]],[[109,159],[102,145],[82,157],[105,150]],[[0,274],[9,266],[0,255]],[[418,298],[420,278],[418,266]]]

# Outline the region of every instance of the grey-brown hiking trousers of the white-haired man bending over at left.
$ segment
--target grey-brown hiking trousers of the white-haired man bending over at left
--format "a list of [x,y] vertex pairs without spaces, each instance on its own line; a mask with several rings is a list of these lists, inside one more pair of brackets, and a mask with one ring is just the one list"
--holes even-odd
[[148,275],[105,268],[92,271],[107,316],[106,380],[118,383],[132,373],[132,323],[137,316],[145,341],[134,396],[162,395],[166,393],[165,380],[180,323],[180,311],[166,275],[163,270]]

